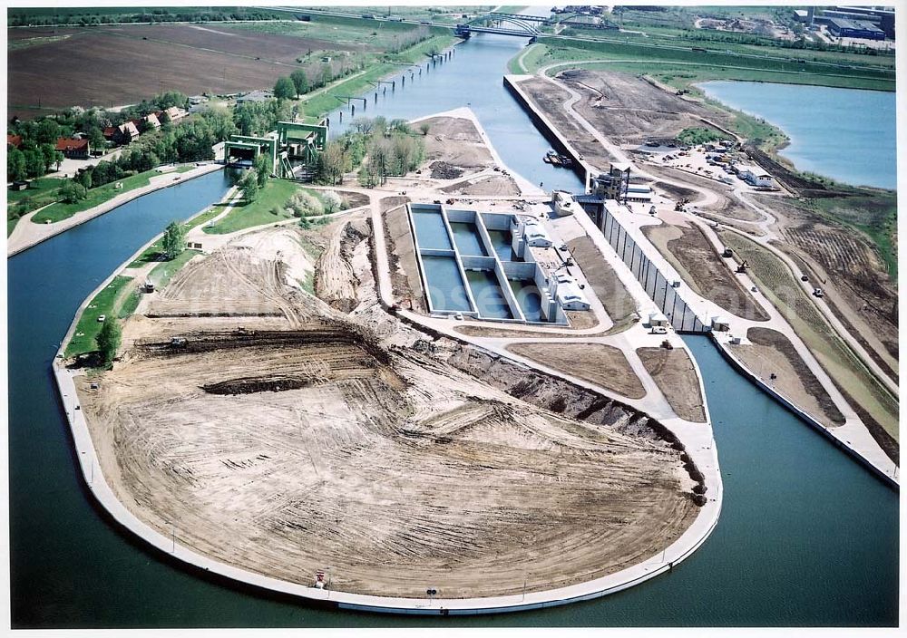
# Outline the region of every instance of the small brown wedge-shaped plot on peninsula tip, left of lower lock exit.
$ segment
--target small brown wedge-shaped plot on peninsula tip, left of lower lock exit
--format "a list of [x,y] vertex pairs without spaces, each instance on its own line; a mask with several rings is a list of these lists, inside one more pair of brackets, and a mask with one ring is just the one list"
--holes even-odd
[[639,348],[636,352],[678,417],[705,422],[699,380],[687,351]]

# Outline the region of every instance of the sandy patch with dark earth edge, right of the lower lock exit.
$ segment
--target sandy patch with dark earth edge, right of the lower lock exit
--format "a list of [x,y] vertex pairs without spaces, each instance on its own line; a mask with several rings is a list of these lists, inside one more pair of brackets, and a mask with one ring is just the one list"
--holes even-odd
[[[751,344],[731,345],[741,361],[795,405],[818,416],[823,425],[833,428],[844,424],[844,415],[828,392],[794,350],[784,334],[766,328],[750,328],[746,338]],[[775,379],[771,375],[775,374]]]

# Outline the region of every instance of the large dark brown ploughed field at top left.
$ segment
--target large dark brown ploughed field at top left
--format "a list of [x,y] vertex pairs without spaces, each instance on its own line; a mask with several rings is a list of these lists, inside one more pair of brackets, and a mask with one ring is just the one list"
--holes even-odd
[[[38,30],[28,31],[34,36]],[[39,103],[45,111],[131,104],[163,89],[194,95],[270,88],[293,70],[293,60],[309,47],[338,48],[336,43],[287,35],[213,31],[219,29],[190,24],[71,29],[65,40],[10,51],[10,115],[16,107]],[[259,60],[261,52],[268,53]]]

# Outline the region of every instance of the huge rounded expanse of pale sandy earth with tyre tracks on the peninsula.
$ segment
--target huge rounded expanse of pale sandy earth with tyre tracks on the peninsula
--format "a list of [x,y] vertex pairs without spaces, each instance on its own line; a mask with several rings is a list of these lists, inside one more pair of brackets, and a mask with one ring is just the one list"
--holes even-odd
[[[462,597],[613,573],[695,517],[701,476],[658,423],[468,346],[378,339],[289,285],[281,247],[185,267],[170,314],[126,323],[98,389],[77,380],[105,478],[151,527],[293,583]],[[221,276],[241,319],[193,310]]]

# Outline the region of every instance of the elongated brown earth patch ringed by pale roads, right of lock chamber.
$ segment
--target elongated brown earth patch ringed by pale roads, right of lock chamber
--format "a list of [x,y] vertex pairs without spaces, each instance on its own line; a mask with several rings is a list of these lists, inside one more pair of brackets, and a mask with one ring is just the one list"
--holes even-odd
[[660,224],[643,227],[642,232],[699,295],[744,319],[768,320],[699,228]]

